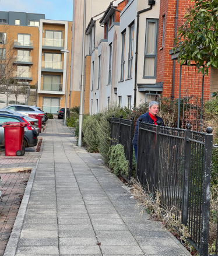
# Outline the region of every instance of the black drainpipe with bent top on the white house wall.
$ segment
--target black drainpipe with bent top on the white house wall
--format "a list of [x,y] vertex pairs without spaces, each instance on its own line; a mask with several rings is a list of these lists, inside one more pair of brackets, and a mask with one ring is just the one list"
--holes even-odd
[[137,12],[137,27],[136,27],[136,50],[135,50],[135,82],[134,82],[134,107],[136,106],[136,92],[137,92],[137,68],[138,68],[138,46],[139,46],[139,15],[140,13],[152,10],[152,6],[155,5],[154,0],[148,0],[149,8],[139,10]]

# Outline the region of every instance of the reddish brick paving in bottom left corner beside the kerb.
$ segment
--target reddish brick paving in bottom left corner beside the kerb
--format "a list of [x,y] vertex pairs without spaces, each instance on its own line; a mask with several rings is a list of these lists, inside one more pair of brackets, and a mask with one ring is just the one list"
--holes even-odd
[[0,256],[5,251],[30,173],[0,173],[2,198],[0,201]]

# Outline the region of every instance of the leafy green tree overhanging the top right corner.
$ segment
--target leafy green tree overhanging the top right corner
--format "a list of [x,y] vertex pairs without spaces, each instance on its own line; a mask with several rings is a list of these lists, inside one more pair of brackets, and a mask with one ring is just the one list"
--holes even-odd
[[180,52],[180,65],[195,61],[198,72],[208,75],[210,66],[218,68],[218,0],[192,2],[178,28],[174,52]]

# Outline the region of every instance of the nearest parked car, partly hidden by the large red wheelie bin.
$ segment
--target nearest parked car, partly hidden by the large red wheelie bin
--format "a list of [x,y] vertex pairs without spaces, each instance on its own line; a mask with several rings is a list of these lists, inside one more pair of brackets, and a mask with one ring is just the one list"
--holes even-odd
[[4,128],[2,125],[4,122],[26,122],[27,126],[24,128],[24,143],[25,147],[34,147],[38,142],[38,134],[36,129],[24,119],[23,116],[19,115],[11,115],[11,114],[2,114],[0,113],[0,146],[5,146],[5,138],[4,138]]

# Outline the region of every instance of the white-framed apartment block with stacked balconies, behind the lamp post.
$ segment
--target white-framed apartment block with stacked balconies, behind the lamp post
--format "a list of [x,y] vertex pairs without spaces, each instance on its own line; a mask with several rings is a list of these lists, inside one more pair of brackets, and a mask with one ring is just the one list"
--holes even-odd
[[[47,113],[56,114],[65,106],[65,94],[69,107],[71,38],[72,22],[40,19],[38,106]],[[63,50],[69,52],[61,52]]]

